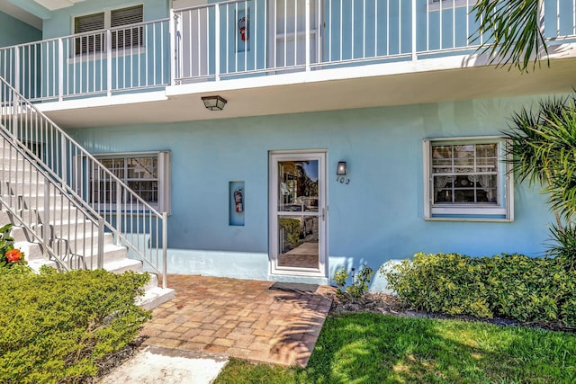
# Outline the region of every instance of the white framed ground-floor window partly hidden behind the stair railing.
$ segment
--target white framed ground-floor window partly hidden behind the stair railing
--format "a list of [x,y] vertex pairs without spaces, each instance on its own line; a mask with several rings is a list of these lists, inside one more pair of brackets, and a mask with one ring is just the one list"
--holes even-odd
[[[170,213],[170,152],[106,154],[94,157],[154,209]],[[116,184],[110,183],[109,177],[92,173],[90,184],[91,201],[118,203]]]

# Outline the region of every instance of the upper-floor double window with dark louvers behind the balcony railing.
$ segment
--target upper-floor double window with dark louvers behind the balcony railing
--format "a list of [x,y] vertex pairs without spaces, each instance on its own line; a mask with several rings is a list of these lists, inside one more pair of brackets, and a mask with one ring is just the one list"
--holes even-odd
[[[122,28],[143,21],[143,5],[76,17],[74,33],[83,33],[83,36],[76,38],[76,55],[105,52],[106,32],[103,31],[105,29],[112,29],[112,49],[143,46],[144,28],[142,26]],[[94,33],[88,33],[90,31]]]

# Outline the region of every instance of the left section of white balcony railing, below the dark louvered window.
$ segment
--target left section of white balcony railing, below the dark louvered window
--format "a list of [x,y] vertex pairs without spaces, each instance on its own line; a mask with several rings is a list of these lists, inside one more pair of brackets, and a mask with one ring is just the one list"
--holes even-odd
[[168,19],[0,49],[0,76],[27,99],[119,93],[169,83]]

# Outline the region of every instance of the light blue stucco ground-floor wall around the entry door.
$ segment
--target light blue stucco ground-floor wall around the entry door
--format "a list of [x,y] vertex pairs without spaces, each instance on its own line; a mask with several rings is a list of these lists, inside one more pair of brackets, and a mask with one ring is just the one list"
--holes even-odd
[[[499,134],[536,98],[70,129],[94,153],[172,151],[171,272],[266,278],[270,150],[326,148],[329,275],[416,252],[540,255],[551,216],[537,188],[517,185],[515,220],[423,219],[422,139]],[[347,161],[351,183],[336,181]],[[245,226],[229,226],[229,182],[246,183]],[[238,262],[241,260],[241,262]],[[238,263],[232,268],[231,263]],[[380,282],[376,279],[375,285]]]

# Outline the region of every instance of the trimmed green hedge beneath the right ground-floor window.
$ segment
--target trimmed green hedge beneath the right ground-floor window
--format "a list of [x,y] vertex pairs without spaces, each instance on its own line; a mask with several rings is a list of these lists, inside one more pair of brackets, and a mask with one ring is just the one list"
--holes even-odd
[[413,308],[576,326],[576,271],[554,258],[419,253],[380,272]]

